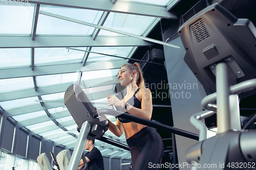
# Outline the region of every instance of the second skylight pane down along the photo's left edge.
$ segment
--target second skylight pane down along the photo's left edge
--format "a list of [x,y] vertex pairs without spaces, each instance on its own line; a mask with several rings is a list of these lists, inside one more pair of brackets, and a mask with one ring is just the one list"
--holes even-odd
[[[1,5],[0,8],[2,8]],[[0,48],[0,54],[0,68],[25,67],[31,65],[30,48]]]

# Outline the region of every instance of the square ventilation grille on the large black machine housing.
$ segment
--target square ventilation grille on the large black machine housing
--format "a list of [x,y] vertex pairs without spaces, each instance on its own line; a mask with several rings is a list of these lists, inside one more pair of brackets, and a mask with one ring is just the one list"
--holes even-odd
[[196,37],[197,42],[200,42],[203,39],[210,36],[202,19],[194,23],[194,25],[192,25],[190,29],[193,32],[194,36]]

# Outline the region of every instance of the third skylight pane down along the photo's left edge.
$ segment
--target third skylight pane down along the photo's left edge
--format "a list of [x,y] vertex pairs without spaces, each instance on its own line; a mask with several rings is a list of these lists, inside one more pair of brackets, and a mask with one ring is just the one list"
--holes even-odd
[[1,86],[0,93],[17,91],[17,90],[34,88],[34,81],[32,77],[1,79],[0,86]]

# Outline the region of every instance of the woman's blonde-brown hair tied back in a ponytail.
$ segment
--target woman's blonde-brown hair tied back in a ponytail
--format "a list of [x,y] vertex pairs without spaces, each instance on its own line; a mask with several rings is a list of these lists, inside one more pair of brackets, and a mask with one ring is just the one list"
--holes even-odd
[[[126,63],[123,66],[126,66],[131,72],[135,71],[137,72],[137,76],[136,76],[136,84],[139,88],[145,88],[145,82],[144,82],[144,78],[143,78],[143,72],[140,69],[140,65],[139,63],[134,63],[134,64],[130,64],[130,63]],[[123,67],[122,66],[122,67]]]

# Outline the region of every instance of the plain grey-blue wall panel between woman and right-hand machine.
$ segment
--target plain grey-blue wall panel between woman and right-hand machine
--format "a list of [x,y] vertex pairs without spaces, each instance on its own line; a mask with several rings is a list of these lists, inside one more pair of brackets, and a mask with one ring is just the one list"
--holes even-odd
[[[176,31],[167,30],[164,35],[168,37]],[[174,127],[198,134],[198,130],[191,126],[189,119],[191,115],[202,111],[201,100],[206,94],[203,86],[183,60],[185,50],[179,35],[174,36],[168,43],[180,46],[180,49],[164,46]],[[196,140],[176,135],[177,155],[180,163],[186,162],[185,151],[196,143]],[[183,167],[182,169],[189,168]]]

